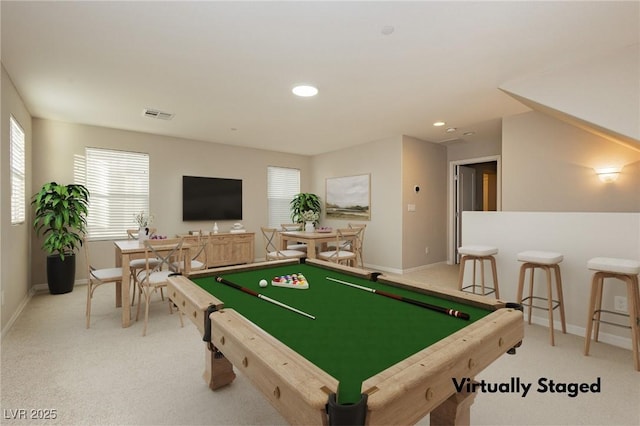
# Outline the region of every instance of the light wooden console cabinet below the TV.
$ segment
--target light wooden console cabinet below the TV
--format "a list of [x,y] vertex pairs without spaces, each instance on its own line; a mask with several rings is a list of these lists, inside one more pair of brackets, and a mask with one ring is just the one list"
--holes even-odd
[[[197,235],[180,235],[185,241],[196,242]],[[218,233],[203,235],[207,240],[207,247],[198,260],[205,262],[207,268],[218,266],[240,265],[253,263],[255,253],[255,232]]]

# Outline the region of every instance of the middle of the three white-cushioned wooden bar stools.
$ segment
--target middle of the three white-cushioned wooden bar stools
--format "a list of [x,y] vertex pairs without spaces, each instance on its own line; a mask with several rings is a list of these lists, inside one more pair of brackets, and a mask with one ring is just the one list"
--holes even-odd
[[[564,257],[561,253],[551,251],[539,251],[528,250],[518,253],[518,261],[524,262],[520,267],[520,278],[518,279],[518,303],[529,301],[529,324],[531,324],[531,311],[533,308],[544,309],[549,311],[549,331],[551,338],[551,346],[555,346],[555,340],[553,336],[553,310],[560,310],[560,323],[562,324],[562,333],[567,333],[567,326],[564,319],[564,300],[562,298],[562,278],[560,277],[560,265]],[[536,268],[542,269],[547,273],[547,297],[539,297],[533,295],[533,275]],[[530,269],[529,280],[529,296],[522,298],[524,291],[524,278],[527,270]],[[551,270],[555,272],[556,276],[556,293],[557,300],[553,299],[553,288],[551,285]],[[547,306],[534,306],[534,300],[544,300],[547,302]]]

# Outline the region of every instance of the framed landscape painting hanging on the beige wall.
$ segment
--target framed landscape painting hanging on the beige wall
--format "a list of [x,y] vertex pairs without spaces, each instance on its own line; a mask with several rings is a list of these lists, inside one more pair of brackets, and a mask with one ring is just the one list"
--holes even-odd
[[371,219],[371,175],[327,178],[327,219]]

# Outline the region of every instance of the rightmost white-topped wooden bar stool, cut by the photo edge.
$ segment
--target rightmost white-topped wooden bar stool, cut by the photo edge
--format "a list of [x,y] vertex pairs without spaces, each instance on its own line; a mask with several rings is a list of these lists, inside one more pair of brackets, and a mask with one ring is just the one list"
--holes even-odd
[[[587,333],[584,341],[584,354],[589,355],[589,344],[591,343],[591,330],[593,329],[593,340],[598,341],[599,325],[605,323],[618,327],[631,329],[631,342],[633,345],[633,362],[635,369],[640,371],[640,355],[638,354],[638,344],[640,340],[640,290],[638,289],[638,274],[640,274],[640,262],[629,259],[616,259],[611,257],[595,257],[587,262],[587,268],[595,271],[591,281],[591,300],[589,301],[589,317],[587,318]],[[605,278],[615,278],[627,283],[627,301],[629,304],[628,314],[607,311],[602,309],[602,287]],[[629,325],[607,322],[600,319],[602,312],[629,317]],[[594,323],[595,322],[595,327]]]

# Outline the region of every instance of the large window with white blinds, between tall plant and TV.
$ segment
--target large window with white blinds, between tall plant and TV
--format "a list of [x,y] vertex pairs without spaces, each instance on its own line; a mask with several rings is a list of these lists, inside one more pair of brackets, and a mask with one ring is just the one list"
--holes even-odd
[[149,155],[87,148],[86,183],[91,194],[87,231],[91,239],[125,238],[134,216],[149,214]]

